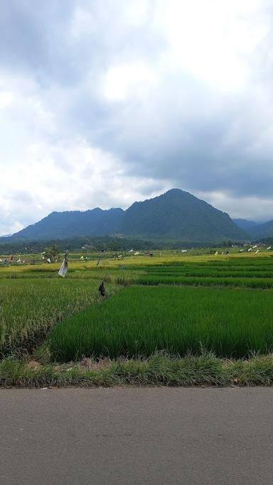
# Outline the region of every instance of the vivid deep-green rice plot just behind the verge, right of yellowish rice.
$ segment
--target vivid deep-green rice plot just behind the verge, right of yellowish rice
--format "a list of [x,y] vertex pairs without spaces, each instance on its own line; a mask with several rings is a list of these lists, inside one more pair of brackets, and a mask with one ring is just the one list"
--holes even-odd
[[273,352],[273,291],[132,286],[63,320],[48,339],[53,359]]

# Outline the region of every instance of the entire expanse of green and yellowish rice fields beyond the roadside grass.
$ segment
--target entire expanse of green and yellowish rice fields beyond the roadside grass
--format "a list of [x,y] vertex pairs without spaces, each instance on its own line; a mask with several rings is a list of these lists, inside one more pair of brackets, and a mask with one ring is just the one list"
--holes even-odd
[[60,263],[0,267],[0,354],[31,352],[47,336],[53,361],[273,352],[271,254],[157,251],[112,255],[100,266],[78,258],[65,279]]

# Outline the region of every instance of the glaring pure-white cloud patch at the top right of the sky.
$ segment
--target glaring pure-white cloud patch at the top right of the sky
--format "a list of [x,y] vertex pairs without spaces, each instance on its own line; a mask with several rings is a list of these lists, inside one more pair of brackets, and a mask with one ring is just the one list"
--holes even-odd
[[159,2],[158,22],[168,56],[196,79],[226,91],[242,89],[255,48],[269,33],[262,2]]

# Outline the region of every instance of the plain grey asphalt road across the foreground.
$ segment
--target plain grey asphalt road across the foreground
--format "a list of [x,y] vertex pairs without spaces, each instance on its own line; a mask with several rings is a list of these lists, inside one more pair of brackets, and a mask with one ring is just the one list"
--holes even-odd
[[273,388],[0,391],[1,485],[273,482]]

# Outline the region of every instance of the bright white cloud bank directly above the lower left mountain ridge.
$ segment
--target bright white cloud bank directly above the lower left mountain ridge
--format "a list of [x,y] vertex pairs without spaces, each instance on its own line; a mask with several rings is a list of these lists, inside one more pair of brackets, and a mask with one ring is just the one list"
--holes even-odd
[[[110,153],[91,148],[85,140],[33,143],[21,153],[21,160],[1,167],[2,233],[12,233],[24,224],[45,217],[54,210],[86,210],[90,207],[128,207],[145,192],[159,195],[168,185],[129,176]],[[18,190],[21,187],[22,190]]]

